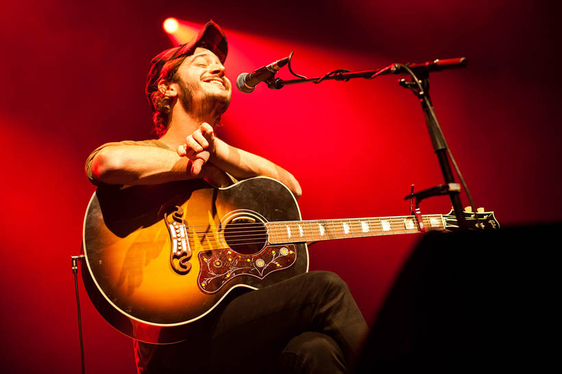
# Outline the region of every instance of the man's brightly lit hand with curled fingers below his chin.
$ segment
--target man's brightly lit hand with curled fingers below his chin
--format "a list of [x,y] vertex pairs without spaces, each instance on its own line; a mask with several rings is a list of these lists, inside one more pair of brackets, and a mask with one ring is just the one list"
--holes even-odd
[[201,168],[209,160],[211,154],[215,153],[215,133],[212,126],[206,122],[199,126],[186,137],[186,142],[178,146],[176,150],[180,157],[191,160],[191,175],[199,176]]

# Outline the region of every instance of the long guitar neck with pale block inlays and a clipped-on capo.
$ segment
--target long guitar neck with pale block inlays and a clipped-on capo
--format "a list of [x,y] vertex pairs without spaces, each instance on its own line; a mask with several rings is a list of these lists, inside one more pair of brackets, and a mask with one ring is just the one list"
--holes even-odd
[[[445,230],[443,215],[422,215],[426,231]],[[302,243],[422,232],[413,215],[267,222],[269,243]]]

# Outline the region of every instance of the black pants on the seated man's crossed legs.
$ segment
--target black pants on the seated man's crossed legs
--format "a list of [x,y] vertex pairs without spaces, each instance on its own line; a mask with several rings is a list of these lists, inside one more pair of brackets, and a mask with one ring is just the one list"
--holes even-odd
[[173,345],[138,343],[142,373],[345,373],[367,334],[347,284],[312,271],[232,295]]

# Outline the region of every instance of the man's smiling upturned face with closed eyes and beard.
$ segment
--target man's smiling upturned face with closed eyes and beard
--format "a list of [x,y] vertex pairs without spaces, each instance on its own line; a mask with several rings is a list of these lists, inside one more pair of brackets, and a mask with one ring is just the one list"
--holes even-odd
[[232,85],[224,75],[219,57],[208,49],[197,47],[180,68],[179,100],[186,111],[205,116],[226,111],[232,96]]

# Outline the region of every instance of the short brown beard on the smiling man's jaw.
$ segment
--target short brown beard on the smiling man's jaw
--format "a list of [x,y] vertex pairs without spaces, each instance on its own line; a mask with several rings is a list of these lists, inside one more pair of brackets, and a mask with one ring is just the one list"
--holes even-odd
[[[230,95],[209,93],[202,90],[197,85],[180,79],[178,83],[181,88],[178,99],[182,103],[182,107],[196,117],[206,118],[212,116],[217,118],[217,123],[221,120],[221,115],[228,109],[230,105]],[[199,92],[197,92],[199,90]],[[201,96],[199,103],[194,103],[193,96],[198,93]],[[215,123],[216,124],[216,123]]]

